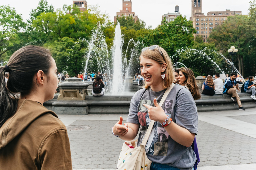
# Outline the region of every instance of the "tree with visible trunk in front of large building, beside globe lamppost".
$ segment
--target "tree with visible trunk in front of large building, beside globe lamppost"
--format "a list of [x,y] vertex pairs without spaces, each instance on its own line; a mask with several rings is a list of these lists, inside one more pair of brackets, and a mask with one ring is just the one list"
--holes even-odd
[[214,42],[216,48],[227,51],[232,45],[237,49],[239,72],[244,76],[244,57],[248,55],[249,44],[253,37],[248,27],[248,16],[230,16],[222,25],[215,27],[209,36],[209,42]]

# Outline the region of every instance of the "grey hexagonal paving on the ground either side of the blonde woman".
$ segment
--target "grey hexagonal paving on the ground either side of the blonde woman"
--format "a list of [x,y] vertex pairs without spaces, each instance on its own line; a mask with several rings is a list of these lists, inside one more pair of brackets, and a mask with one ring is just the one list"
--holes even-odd
[[[77,120],[70,126],[89,126],[68,131],[73,169],[115,169],[123,140],[111,134],[117,121]],[[199,121],[200,166],[256,163],[256,139]]]

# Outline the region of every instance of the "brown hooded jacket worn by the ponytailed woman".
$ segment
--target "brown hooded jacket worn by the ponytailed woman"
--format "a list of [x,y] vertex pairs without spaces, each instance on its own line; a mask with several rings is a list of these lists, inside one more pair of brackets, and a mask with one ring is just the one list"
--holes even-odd
[[68,133],[40,103],[19,99],[0,128],[0,170],[72,170]]

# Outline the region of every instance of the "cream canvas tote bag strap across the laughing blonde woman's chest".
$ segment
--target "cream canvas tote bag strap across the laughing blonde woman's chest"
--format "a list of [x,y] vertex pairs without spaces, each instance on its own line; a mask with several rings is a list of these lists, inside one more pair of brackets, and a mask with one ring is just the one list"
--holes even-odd
[[[166,99],[166,97],[168,96],[168,94],[170,93],[170,91],[172,90],[172,88],[173,88],[174,86],[175,86],[175,84],[172,83],[172,84],[170,85],[170,87],[168,87],[167,90],[165,91],[165,93],[164,93],[164,95],[163,95],[163,97],[162,97],[162,99],[161,99],[161,101],[160,101],[160,103],[159,103],[159,105],[160,105],[161,107],[162,107],[162,105],[163,105],[163,103],[164,103],[164,100]],[[149,135],[150,135],[150,133],[151,133],[151,130],[152,130],[154,124],[155,124],[155,121],[151,120],[151,121],[150,121],[150,124],[149,124],[149,126],[148,126],[148,129],[147,129],[147,132],[146,132],[146,134],[145,134],[145,136],[144,136],[144,138],[143,138],[143,141],[142,141],[142,143],[140,144],[140,146],[142,146],[143,148],[145,148],[145,146],[146,146],[146,144],[147,144]]]

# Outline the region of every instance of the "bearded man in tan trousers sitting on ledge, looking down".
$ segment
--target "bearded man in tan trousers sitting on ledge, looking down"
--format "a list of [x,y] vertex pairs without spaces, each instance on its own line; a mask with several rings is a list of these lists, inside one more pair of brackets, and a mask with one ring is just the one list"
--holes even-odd
[[225,88],[228,89],[227,94],[232,95],[231,99],[234,102],[237,102],[238,104],[238,110],[245,110],[242,107],[242,103],[240,101],[240,97],[238,96],[236,89],[238,89],[238,91],[240,91],[238,84],[236,83],[236,73],[231,73],[230,74],[230,80],[227,80],[227,83],[225,84]]

